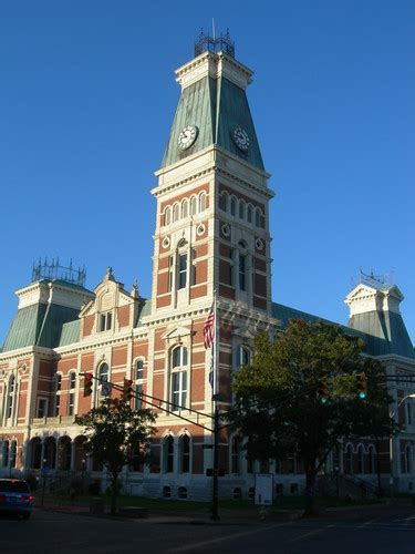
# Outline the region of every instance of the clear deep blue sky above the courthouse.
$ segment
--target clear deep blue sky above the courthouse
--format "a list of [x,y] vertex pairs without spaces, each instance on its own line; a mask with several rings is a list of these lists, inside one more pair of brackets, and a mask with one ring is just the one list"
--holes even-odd
[[414,2],[15,0],[0,6],[0,343],[40,256],[151,294],[174,70],[212,17],[255,71],[273,300],[345,322],[359,268],[393,270],[415,339]]

